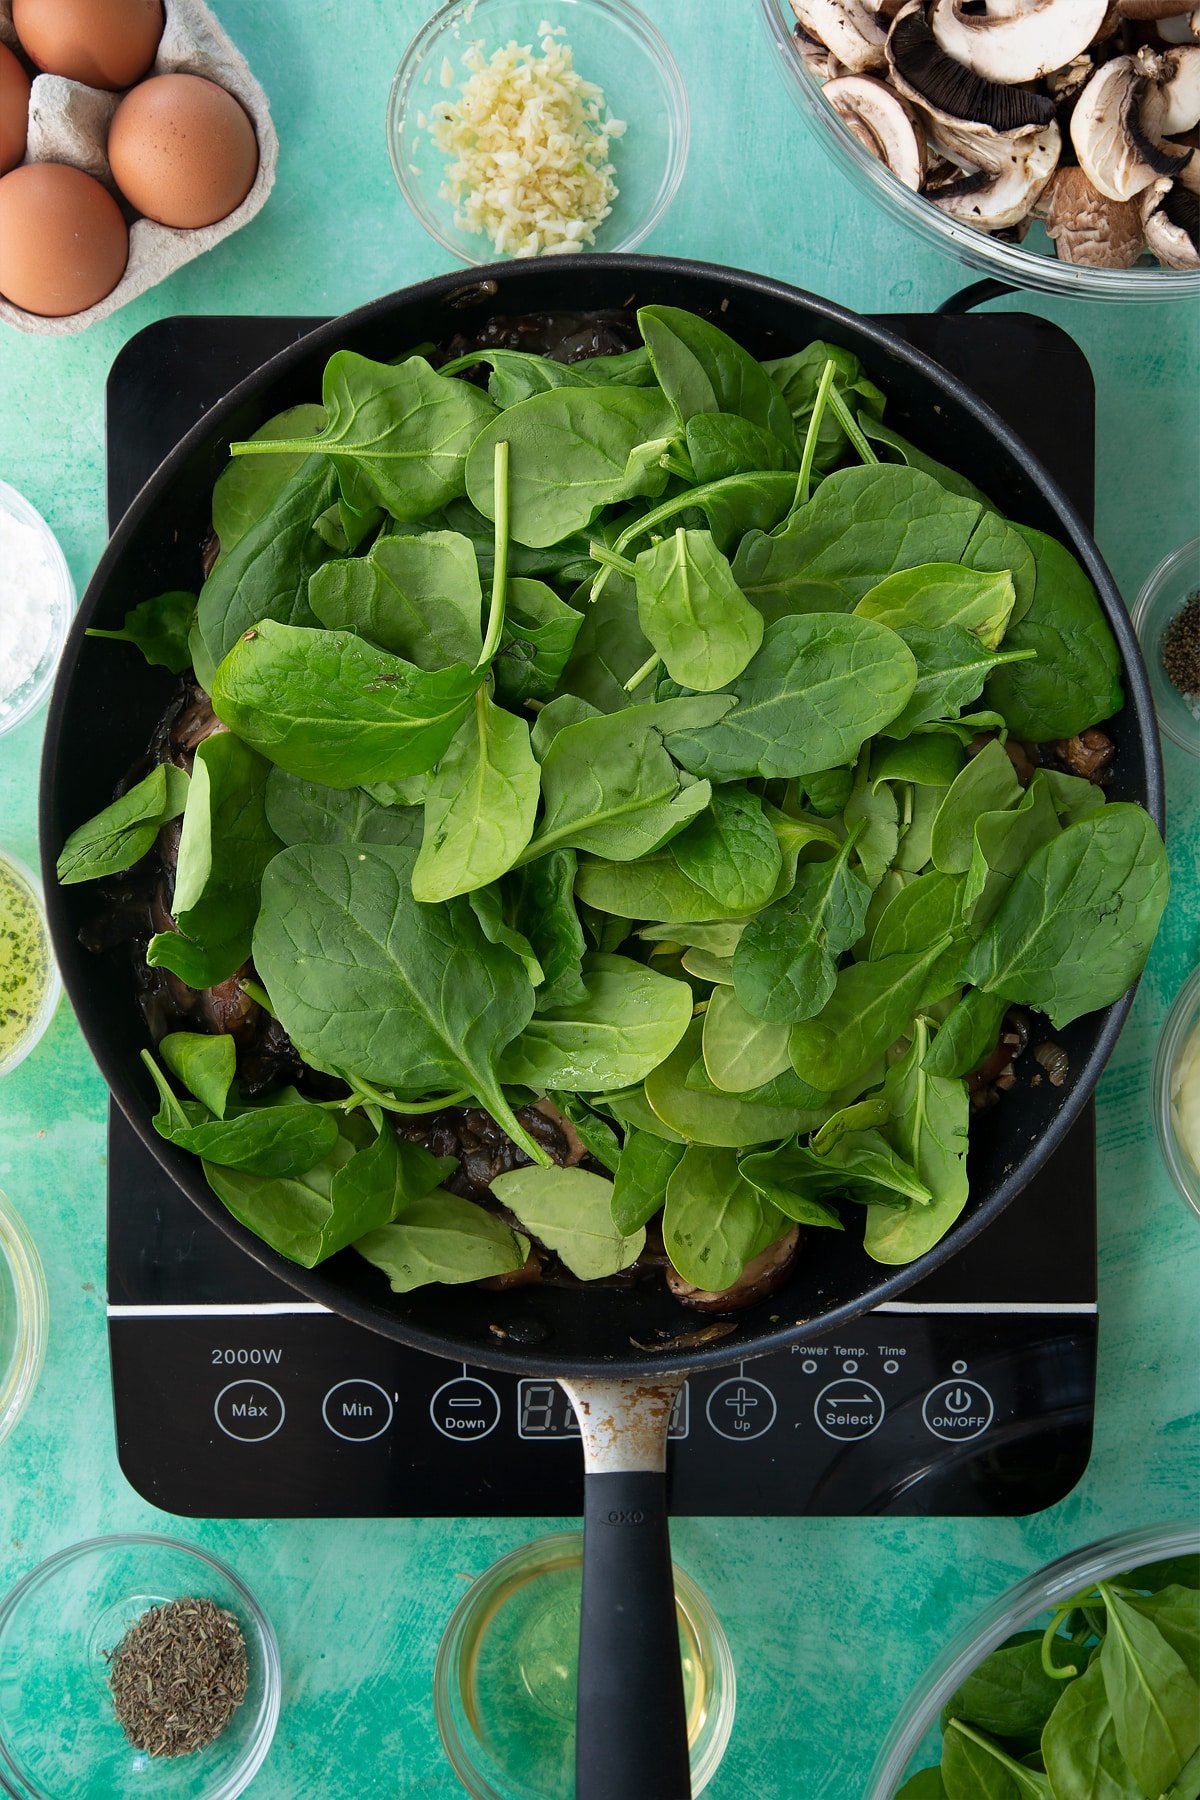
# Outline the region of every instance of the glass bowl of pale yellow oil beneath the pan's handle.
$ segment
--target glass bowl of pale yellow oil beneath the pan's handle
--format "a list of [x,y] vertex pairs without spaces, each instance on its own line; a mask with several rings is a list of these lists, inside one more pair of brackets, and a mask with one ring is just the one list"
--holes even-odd
[[[434,1712],[471,1800],[574,1793],[583,1535],[522,1544],[471,1582],[437,1647]],[[734,1728],[736,1676],[721,1624],[680,1568],[693,1793],[716,1775]]]

